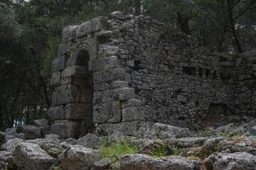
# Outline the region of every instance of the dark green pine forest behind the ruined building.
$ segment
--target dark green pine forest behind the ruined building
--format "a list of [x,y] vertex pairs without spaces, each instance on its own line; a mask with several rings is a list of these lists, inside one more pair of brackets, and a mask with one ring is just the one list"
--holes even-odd
[[46,116],[61,29],[116,10],[150,14],[212,53],[256,48],[255,0],[0,0],[0,130]]

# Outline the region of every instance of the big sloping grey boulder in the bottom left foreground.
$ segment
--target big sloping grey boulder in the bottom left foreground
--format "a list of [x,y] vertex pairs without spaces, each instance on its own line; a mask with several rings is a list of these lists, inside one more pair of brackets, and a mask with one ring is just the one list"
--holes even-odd
[[21,143],[14,152],[17,167],[22,170],[49,170],[55,158],[49,156],[38,144]]

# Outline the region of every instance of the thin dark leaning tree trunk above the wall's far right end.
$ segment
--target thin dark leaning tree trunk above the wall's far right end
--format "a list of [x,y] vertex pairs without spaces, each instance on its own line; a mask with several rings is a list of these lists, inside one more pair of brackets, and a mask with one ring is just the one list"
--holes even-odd
[[237,52],[242,53],[241,43],[238,38],[238,34],[235,27],[235,20],[233,17],[232,0],[226,0],[226,1],[227,1],[228,13],[229,13],[230,28],[236,44]]

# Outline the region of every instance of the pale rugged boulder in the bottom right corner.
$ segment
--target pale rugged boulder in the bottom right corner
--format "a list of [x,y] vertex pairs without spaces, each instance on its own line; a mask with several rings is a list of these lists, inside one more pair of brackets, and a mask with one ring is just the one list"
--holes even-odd
[[256,156],[246,152],[214,153],[205,160],[211,170],[255,170]]

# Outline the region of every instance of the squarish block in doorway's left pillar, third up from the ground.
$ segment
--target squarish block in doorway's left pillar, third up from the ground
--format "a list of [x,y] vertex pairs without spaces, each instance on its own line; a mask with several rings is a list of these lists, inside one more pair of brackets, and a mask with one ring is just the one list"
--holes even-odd
[[56,88],[57,105],[80,102],[80,90],[73,85],[64,85]]

